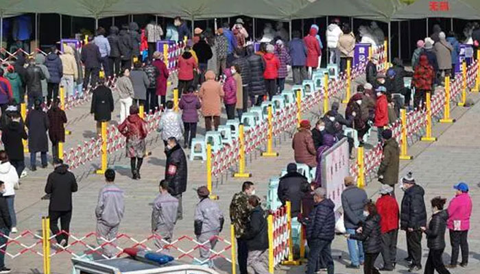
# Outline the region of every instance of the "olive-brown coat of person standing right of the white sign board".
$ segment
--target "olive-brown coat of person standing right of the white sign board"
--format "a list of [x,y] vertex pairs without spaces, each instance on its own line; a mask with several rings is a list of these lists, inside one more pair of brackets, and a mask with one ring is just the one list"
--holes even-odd
[[382,184],[393,186],[398,182],[398,169],[400,166],[400,148],[395,138],[385,140],[383,145],[383,158],[377,175],[383,176]]

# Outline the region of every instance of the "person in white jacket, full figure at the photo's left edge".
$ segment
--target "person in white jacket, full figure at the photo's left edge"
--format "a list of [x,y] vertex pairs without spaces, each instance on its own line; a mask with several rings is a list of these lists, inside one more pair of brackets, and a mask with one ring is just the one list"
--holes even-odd
[[8,213],[12,221],[12,233],[16,233],[18,231],[16,229],[14,201],[15,188],[19,186],[19,175],[16,173],[15,167],[8,162],[8,155],[4,150],[0,151],[0,181],[5,184],[5,192],[2,195],[7,201]]

